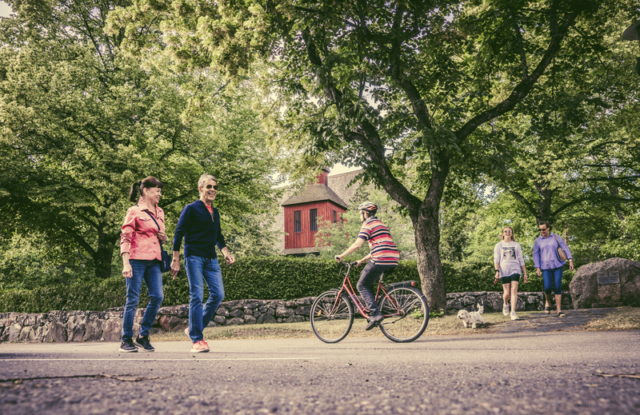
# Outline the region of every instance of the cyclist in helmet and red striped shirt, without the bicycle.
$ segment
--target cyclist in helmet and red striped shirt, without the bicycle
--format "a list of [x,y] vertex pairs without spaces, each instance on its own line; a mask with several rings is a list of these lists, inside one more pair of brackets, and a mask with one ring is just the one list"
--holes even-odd
[[360,273],[360,280],[356,287],[362,295],[367,308],[370,311],[369,324],[365,330],[371,330],[378,326],[384,316],[375,302],[373,293],[374,283],[380,278],[383,272],[392,270],[398,266],[398,259],[400,254],[396,244],[391,239],[391,233],[384,223],[382,223],[377,217],[378,205],[371,202],[364,202],[358,207],[360,211],[360,222],[362,228],[360,228],[360,234],[356,241],[346,251],[340,255],[336,255],[336,261],[342,262],[342,258],[357,251],[362,247],[364,241],[369,243],[369,249],[371,252],[366,257],[358,261],[357,266],[368,262],[371,262]]

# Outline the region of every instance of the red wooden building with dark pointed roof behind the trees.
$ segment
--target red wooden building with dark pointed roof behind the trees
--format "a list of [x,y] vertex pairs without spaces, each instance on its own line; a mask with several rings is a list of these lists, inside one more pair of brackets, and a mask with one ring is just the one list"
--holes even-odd
[[347,204],[329,187],[329,170],[323,169],[318,182],[305,187],[299,194],[282,203],[284,207],[284,254],[317,253],[315,236],[318,222],[336,223],[346,212]]

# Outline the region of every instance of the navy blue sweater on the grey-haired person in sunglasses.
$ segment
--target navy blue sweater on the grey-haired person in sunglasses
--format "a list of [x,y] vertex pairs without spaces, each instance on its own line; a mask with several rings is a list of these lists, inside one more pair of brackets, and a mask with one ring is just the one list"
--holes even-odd
[[184,256],[199,256],[214,259],[216,245],[222,249],[227,245],[220,229],[220,213],[213,208],[213,220],[211,214],[202,200],[189,203],[182,209],[178,226],[173,237],[173,250],[180,251],[180,245],[184,238]]

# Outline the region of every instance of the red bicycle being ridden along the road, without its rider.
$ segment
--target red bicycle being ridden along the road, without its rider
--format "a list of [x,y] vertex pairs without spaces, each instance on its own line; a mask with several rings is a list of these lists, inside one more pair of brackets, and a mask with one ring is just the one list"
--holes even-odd
[[[357,262],[345,263],[347,272],[342,286],[320,294],[311,305],[311,328],[325,343],[337,343],[347,337],[353,326],[353,304],[363,317],[369,318],[369,310],[356,295],[349,272]],[[429,323],[429,306],[424,294],[415,288],[415,281],[384,285],[380,276],[375,301],[385,319],[378,327],[396,343],[412,342],[424,333]]]

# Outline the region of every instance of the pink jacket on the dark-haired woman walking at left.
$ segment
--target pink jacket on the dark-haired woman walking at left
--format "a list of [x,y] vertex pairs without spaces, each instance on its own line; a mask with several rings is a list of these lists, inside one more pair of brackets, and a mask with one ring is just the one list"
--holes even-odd
[[[156,210],[158,216],[155,219],[164,232],[164,211],[159,206],[156,206]],[[162,261],[158,227],[147,212],[147,209],[143,210],[138,205],[130,207],[127,211],[120,234],[120,255],[128,252],[130,259]],[[149,213],[153,215],[153,212]]]

